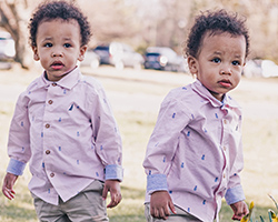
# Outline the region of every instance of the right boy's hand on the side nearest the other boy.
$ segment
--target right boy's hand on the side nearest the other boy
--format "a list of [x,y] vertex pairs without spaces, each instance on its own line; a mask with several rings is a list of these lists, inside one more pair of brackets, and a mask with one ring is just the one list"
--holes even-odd
[[177,213],[171,200],[171,196],[167,191],[156,191],[150,198],[150,214],[158,219],[168,219],[172,213]]

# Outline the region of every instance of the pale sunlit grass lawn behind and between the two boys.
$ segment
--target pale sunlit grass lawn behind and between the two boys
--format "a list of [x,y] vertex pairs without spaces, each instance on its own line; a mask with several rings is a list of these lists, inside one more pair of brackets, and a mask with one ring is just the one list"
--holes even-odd
[[[7,75],[0,72],[0,82],[4,84],[26,85],[33,77]],[[29,79],[28,79],[29,78]],[[22,83],[22,81],[23,83]],[[102,81],[102,80],[101,80]],[[267,210],[275,210],[272,201],[268,198],[270,193],[278,199],[278,115],[277,110],[271,112],[271,105],[277,103],[278,90],[275,80],[244,80],[245,84],[235,91],[234,97],[245,110],[244,120],[244,150],[245,169],[241,173],[242,185],[247,196],[247,203],[255,202],[255,216],[262,215],[268,220]],[[261,82],[267,85],[261,88]],[[155,94],[165,97],[167,91],[173,88],[172,84],[151,84],[145,82],[122,82],[120,80],[107,80],[102,82],[106,90],[117,92],[130,91],[132,95],[139,92],[145,97]],[[247,88],[247,87],[248,88]],[[252,85],[250,88],[250,85]],[[260,85],[257,87],[257,85]],[[151,88],[151,89],[150,89]],[[278,88],[277,88],[278,89]],[[143,91],[143,92],[142,92]],[[271,91],[271,93],[269,93]],[[2,182],[4,169],[8,164],[7,140],[9,123],[12,117],[16,101],[0,100],[0,179]],[[276,107],[274,107],[276,108]],[[261,111],[267,114],[261,114]],[[272,113],[272,114],[271,114]],[[122,202],[115,209],[108,210],[111,222],[142,222],[143,200],[146,188],[146,175],[142,169],[142,160],[151,131],[155,127],[157,111],[148,112],[141,110],[118,110],[115,109],[123,142],[123,168],[125,181],[122,182]],[[20,176],[14,189],[17,198],[9,201],[0,195],[0,221],[1,222],[33,222],[38,221],[32,205],[32,199],[27,184],[30,174],[26,170],[24,175]],[[224,202],[220,211],[220,221],[231,221],[232,211]]]

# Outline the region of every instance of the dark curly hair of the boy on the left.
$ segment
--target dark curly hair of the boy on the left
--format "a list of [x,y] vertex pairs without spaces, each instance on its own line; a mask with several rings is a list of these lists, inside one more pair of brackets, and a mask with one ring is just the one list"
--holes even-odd
[[62,19],[64,21],[69,21],[71,19],[76,20],[80,27],[81,46],[85,46],[90,41],[90,24],[81,10],[78,9],[73,3],[56,0],[41,3],[33,12],[29,23],[29,40],[32,47],[37,47],[36,38],[39,24],[42,21],[51,21],[54,19]]

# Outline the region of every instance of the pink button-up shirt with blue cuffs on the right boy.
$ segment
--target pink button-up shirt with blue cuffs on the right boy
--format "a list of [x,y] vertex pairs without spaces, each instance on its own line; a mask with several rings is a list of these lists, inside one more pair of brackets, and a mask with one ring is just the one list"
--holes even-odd
[[228,204],[245,199],[241,111],[229,95],[222,102],[197,80],[170,91],[150,137],[143,167],[146,202],[167,190],[173,204],[209,222]]

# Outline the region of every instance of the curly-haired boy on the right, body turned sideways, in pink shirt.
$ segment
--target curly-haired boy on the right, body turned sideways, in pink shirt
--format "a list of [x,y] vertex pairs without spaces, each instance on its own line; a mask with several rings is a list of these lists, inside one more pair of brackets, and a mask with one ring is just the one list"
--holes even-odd
[[248,31],[237,14],[219,10],[196,18],[186,54],[197,80],[169,92],[147,147],[148,222],[218,221],[224,196],[232,220],[248,213],[239,178],[241,109],[228,95],[248,50]]

